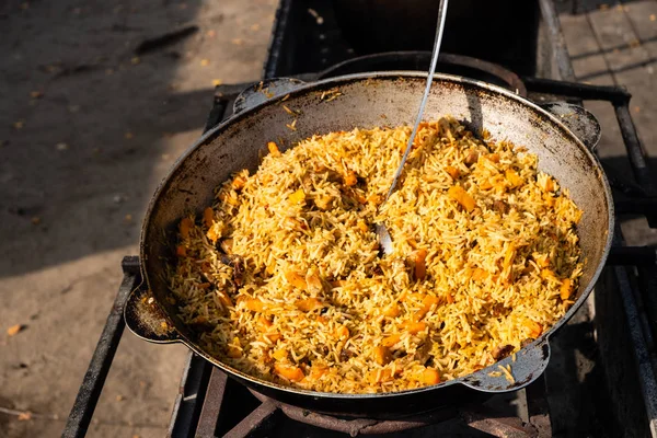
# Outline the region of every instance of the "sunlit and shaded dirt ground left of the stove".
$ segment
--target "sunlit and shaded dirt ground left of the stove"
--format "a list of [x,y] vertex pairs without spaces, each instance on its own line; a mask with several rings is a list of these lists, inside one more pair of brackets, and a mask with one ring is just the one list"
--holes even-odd
[[[60,436],[146,205],[214,83],[260,78],[276,4],[0,2],[0,408],[34,413],[0,437]],[[126,333],[88,436],[163,436],[185,358]]]

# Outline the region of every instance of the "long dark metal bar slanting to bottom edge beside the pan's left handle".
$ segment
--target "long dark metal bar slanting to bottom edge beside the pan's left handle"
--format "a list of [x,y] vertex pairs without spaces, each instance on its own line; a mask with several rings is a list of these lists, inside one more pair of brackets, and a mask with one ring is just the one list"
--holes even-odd
[[122,262],[124,279],[118,288],[118,293],[112,306],[107,322],[101,334],[93,357],[84,374],[84,380],[69,414],[64,438],[84,437],[91,423],[91,417],[103,391],[105,379],[110,372],[114,354],[118,348],[120,336],[125,327],[123,310],[130,292],[139,286],[141,275],[139,273],[139,257],[124,257]]

